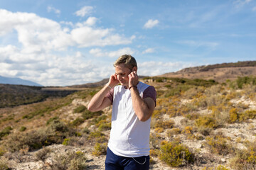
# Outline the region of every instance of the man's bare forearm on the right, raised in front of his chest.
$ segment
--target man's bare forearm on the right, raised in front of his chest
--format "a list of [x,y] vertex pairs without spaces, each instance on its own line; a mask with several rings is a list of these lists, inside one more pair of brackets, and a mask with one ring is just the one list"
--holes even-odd
[[148,120],[151,116],[149,106],[147,106],[141,96],[139,96],[137,88],[131,88],[130,90],[132,96],[132,107],[134,108],[135,114],[141,121]]

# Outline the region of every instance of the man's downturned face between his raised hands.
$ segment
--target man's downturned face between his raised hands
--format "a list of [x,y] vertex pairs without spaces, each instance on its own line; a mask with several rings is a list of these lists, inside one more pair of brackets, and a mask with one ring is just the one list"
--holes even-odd
[[132,72],[131,69],[124,66],[124,64],[119,64],[114,67],[115,74],[117,75],[117,80],[122,86],[129,85],[129,77],[128,75]]

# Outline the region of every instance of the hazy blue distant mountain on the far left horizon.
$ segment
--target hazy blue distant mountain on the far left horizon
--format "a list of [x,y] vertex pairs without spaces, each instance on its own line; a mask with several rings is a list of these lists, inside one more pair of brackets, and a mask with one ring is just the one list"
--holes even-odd
[[17,85],[25,85],[25,86],[42,86],[41,84],[37,84],[33,81],[28,81],[19,78],[10,78],[10,77],[1,77],[0,76],[0,84],[17,84]]

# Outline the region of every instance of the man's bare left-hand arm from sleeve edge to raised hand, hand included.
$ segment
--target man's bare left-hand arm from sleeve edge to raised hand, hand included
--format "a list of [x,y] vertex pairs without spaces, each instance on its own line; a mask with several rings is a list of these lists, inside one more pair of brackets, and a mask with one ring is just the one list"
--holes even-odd
[[104,108],[107,108],[107,106],[111,105],[111,101],[109,98],[105,97],[107,93],[110,91],[110,87],[114,87],[119,83],[119,81],[116,79],[116,76],[113,74],[110,77],[109,82],[99,91],[95,96],[92,97],[92,100],[88,104],[88,110],[95,112],[95,111],[101,111]]

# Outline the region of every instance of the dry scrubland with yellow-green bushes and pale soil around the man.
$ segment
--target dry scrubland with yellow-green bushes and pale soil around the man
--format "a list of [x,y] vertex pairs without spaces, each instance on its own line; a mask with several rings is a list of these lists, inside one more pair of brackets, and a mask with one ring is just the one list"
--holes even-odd
[[[151,169],[256,169],[256,77],[141,81],[157,91]],[[111,107],[87,110],[99,90],[1,108],[0,169],[104,169]]]

